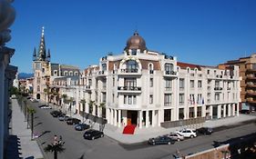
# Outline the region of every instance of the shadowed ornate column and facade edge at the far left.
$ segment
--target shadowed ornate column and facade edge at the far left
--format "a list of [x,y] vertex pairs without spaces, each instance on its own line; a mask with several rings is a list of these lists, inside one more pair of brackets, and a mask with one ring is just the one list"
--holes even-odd
[[17,67],[9,65],[15,49],[6,46],[11,40],[11,30],[8,28],[15,21],[15,8],[11,5],[11,1],[0,1],[0,6],[0,158],[5,158],[12,116],[9,89],[15,79]]

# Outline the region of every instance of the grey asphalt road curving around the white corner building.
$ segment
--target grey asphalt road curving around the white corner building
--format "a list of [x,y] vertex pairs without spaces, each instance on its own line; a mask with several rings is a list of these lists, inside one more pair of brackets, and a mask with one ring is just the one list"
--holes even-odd
[[[139,144],[119,144],[117,141],[104,136],[94,141],[85,140],[83,132],[74,130],[73,125],[58,121],[52,117],[51,110],[44,110],[37,107],[38,103],[33,103],[36,108],[35,132],[41,134],[37,138],[41,150],[47,144],[53,143],[54,135],[62,135],[65,142],[65,152],[58,154],[60,159],[167,159],[173,158],[177,150],[181,154],[194,154],[203,150],[213,148],[214,142],[225,142],[232,138],[256,133],[255,122],[242,124],[237,127],[231,126],[228,129],[220,129],[211,135],[200,135],[193,139],[187,139],[172,145],[148,145]],[[45,153],[45,158],[53,158],[52,153]]]

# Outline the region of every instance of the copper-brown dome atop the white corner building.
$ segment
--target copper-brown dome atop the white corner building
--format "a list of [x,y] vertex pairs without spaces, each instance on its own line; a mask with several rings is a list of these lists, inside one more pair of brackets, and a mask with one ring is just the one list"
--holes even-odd
[[134,34],[128,38],[125,50],[128,52],[129,49],[140,49],[141,52],[147,49],[145,40],[138,35],[137,31],[135,31]]

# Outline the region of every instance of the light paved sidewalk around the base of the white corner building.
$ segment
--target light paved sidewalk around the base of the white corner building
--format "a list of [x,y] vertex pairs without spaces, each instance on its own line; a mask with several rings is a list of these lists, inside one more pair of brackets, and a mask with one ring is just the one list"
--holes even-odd
[[[72,116],[77,117],[82,121],[82,116],[80,116],[79,114],[73,114]],[[240,114],[239,116],[206,121],[204,124],[201,124],[201,126],[208,126],[208,127],[214,128],[214,127],[219,127],[224,125],[238,124],[238,123],[250,121],[253,119],[256,119],[256,116]],[[85,123],[89,124],[88,120]],[[93,128],[98,130],[99,124],[94,124]],[[162,134],[169,134],[170,132],[178,131],[181,128],[184,128],[184,127],[172,127],[167,129],[159,126],[141,128],[141,129],[137,127],[135,130],[135,134],[122,134],[123,127],[106,124],[104,128],[104,134],[108,135],[108,137],[113,138],[122,144],[136,144],[136,143],[146,142],[150,137],[156,137]]]

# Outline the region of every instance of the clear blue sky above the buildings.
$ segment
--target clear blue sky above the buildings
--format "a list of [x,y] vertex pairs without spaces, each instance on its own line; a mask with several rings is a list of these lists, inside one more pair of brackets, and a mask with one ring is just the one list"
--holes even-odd
[[51,61],[97,65],[120,54],[138,29],[149,50],[198,65],[218,65],[256,53],[254,0],[15,0],[11,64],[32,72],[45,26]]

